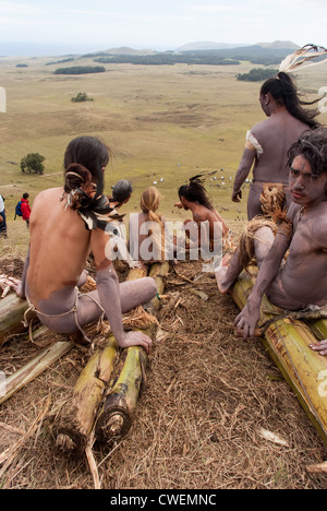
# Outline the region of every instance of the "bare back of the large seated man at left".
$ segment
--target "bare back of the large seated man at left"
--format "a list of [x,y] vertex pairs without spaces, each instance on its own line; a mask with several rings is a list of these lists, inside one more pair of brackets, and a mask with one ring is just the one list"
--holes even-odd
[[33,205],[26,285],[28,298],[36,307],[52,293],[75,287],[90,250],[89,233],[77,211],[65,207],[60,200],[62,193],[62,188],[46,190]]

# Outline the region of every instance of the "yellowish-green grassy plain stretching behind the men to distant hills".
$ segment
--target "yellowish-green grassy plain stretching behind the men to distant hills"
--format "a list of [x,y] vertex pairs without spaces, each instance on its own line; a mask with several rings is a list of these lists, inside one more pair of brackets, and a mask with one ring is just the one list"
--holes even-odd
[[[39,190],[60,186],[64,150],[81,134],[100,136],[112,148],[107,192],[118,179],[130,179],[135,191],[129,211],[137,209],[144,188],[164,178],[158,183],[161,212],[168,218],[183,217],[183,212],[173,210],[179,186],[198,171],[218,169],[220,186],[207,182],[215,205],[227,221],[244,221],[246,190],[242,204],[232,203],[232,180],[245,132],[264,114],[261,84],[238,82],[235,74],[253,64],[107,64],[106,73],[68,76],[53,75],[58,64],[46,66],[51,60],[58,59],[0,59],[0,85],[8,96],[8,111],[0,114],[0,192],[7,199],[10,241],[20,245],[25,235],[21,225],[12,224],[21,194],[27,191],[33,202]],[[323,70],[313,68],[301,74],[299,86],[316,97],[324,80]],[[72,103],[78,92],[95,100]],[[46,157],[44,176],[21,173],[20,162],[29,152]]]

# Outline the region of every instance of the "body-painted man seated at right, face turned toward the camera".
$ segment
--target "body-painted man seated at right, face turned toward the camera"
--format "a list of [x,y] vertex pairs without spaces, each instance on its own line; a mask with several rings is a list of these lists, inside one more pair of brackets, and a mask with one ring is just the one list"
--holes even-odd
[[[302,134],[291,145],[288,158],[293,202],[287,224],[280,224],[276,237],[268,227],[255,233],[259,273],[235,320],[238,334],[244,338],[254,335],[264,294],[277,307],[294,311],[327,304],[327,129]],[[219,290],[228,293],[241,271],[238,251],[229,268],[222,262],[216,269]],[[311,347],[327,355],[327,340]]]

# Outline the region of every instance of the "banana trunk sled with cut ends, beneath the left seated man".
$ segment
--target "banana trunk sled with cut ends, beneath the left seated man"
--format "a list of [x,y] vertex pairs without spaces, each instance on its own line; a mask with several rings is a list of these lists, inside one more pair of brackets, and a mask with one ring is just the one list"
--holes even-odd
[[[158,293],[161,293],[165,284],[160,275],[168,274],[169,264],[154,266],[149,275],[156,278]],[[128,280],[145,275],[146,272],[133,269]],[[158,306],[159,300],[154,307]],[[155,318],[147,314],[145,320],[147,328],[134,328],[152,336],[156,329]],[[133,346],[120,355],[111,335],[105,348],[99,348],[88,360],[72,396],[57,415],[53,426],[57,445],[82,453],[94,433],[102,442],[125,435],[132,425],[141,390],[145,387],[146,364],[147,355],[143,347]]]

